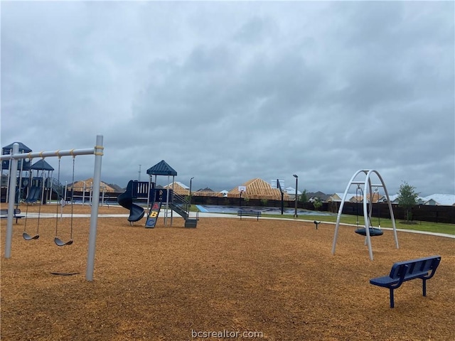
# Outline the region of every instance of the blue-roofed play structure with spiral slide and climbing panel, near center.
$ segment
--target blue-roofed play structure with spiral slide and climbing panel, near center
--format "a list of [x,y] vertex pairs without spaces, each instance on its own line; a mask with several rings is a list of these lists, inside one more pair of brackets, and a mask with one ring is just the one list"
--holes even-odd
[[[185,227],[196,227],[198,219],[190,217],[190,202],[185,197],[175,193],[173,188],[155,188],[157,175],[167,176],[168,183],[172,176],[173,186],[177,172],[166,161],[161,160],[155,166],[149,168],[147,174],[149,175],[149,181],[129,180],[127,190],[117,197],[119,205],[129,210],[128,221],[130,224],[141,220],[145,215],[144,208],[135,204],[134,200],[145,199],[147,205],[146,228],[155,227],[159,212],[163,206],[165,207],[164,226],[167,225],[169,218],[172,226],[172,212],[176,212],[185,220]],[[152,179],[153,176],[154,179]]]

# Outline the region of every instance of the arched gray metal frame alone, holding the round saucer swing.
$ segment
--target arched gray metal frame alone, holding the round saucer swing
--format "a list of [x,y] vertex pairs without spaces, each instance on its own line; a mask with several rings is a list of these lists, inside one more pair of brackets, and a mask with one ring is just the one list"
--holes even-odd
[[[365,180],[355,180],[358,178],[359,174],[364,174],[365,175]],[[371,175],[377,175],[378,179],[380,180],[380,183],[373,184],[371,183]],[[385,196],[387,197],[387,203],[389,206],[389,211],[390,211],[390,219],[392,220],[392,227],[393,227],[393,236],[395,238],[395,246],[398,247],[398,237],[397,237],[397,229],[395,227],[395,217],[393,215],[393,210],[392,210],[392,203],[390,202],[390,197],[389,193],[387,192],[387,188],[385,187],[384,180],[382,180],[382,176],[378,171],[375,171],[374,169],[360,169],[359,171],[355,172],[352,178],[350,178],[348,185],[346,186],[346,190],[343,194],[343,198],[341,199],[341,204],[340,208],[338,209],[338,216],[336,217],[336,225],[335,225],[335,234],[333,236],[333,245],[332,245],[332,254],[335,254],[335,249],[336,249],[336,239],[338,237],[338,228],[340,227],[340,220],[341,220],[341,214],[343,212],[343,206],[344,203],[346,202],[346,197],[348,196],[348,192],[350,189],[351,185],[363,185],[363,218],[365,220],[365,242],[368,245],[368,254],[370,255],[370,260],[373,261],[373,247],[371,246],[371,236],[370,236],[370,222],[371,222],[371,215],[372,215],[372,209],[373,209],[373,200],[371,197],[373,197],[373,187],[374,188],[382,188],[384,190]],[[370,195],[368,195],[368,193]],[[367,199],[365,199],[367,197]],[[368,200],[368,197],[370,199]],[[370,210],[368,210],[368,202],[370,201]]]

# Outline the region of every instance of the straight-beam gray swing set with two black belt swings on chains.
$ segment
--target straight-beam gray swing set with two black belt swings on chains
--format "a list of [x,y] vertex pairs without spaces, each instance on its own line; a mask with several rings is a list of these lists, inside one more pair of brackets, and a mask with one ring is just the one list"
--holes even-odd
[[[78,155],[95,155],[95,166],[94,166],[94,175],[93,175],[93,191],[94,193],[100,193],[100,182],[101,182],[101,161],[103,155],[102,146],[102,135],[97,135],[96,144],[93,148],[87,149],[71,149],[67,151],[41,151],[37,153],[18,153],[19,145],[18,143],[13,144],[12,153],[1,155],[0,160],[9,160],[11,164],[11,172],[9,173],[9,188],[16,188],[17,177],[16,173],[18,171],[18,160],[26,159],[29,160],[41,157],[43,160],[46,157],[58,157],[58,181],[60,183],[60,158],[62,156],[73,156],[73,183],[74,183],[74,172],[75,172],[75,156]],[[43,188],[44,188],[44,178],[43,182],[41,183],[41,205],[43,203]],[[13,238],[13,215],[14,215],[14,202],[15,202],[15,191],[9,191],[9,198],[8,198],[8,220],[6,225],[6,238],[5,238],[5,252],[4,256],[6,259],[11,258],[11,242]],[[60,199],[60,194],[58,194]],[[60,201],[60,200],[59,200]],[[97,218],[98,218],[98,205],[100,203],[100,197],[98,195],[94,195],[92,199],[92,209],[90,214],[90,232],[89,232],[89,242],[88,242],[88,251],[87,251],[87,270],[85,274],[85,278],[87,281],[93,281],[93,270],[95,266],[95,244],[96,244],[96,234],[97,234]],[[41,215],[41,205],[38,210],[38,224],[36,227],[36,234],[33,236],[28,234],[26,231],[26,222],[27,222],[27,215],[26,215],[26,222],[23,231],[23,239],[26,240],[34,240],[38,239],[39,236],[39,226],[40,226],[40,215]],[[59,247],[63,247],[64,245],[73,244],[73,205],[74,205],[74,189],[72,190],[71,195],[71,220],[70,220],[70,239],[68,242],[64,242],[62,239],[58,237],[58,215],[55,221],[55,238],[54,242]],[[27,208],[28,212],[28,208]],[[57,205],[57,212],[58,212],[58,205]]]

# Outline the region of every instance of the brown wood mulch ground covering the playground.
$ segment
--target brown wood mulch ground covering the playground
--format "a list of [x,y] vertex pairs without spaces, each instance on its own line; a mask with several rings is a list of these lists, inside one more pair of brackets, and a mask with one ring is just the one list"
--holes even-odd
[[[396,249],[385,231],[370,261],[354,227],[340,228],[332,255],[334,224],[201,218],[186,229],[177,216],[146,229],[103,217],[87,281],[90,218],[73,219],[65,247],[53,243],[56,221],[40,219],[40,238],[25,241],[24,225],[33,234],[38,220],[19,220],[5,259],[1,220],[1,340],[454,340],[455,239],[398,232]],[[58,234],[69,238],[70,218]],[[422,281],[408,281],[391,309],[389,291],[369,283],[396,261],[435,254],[427,297]]]

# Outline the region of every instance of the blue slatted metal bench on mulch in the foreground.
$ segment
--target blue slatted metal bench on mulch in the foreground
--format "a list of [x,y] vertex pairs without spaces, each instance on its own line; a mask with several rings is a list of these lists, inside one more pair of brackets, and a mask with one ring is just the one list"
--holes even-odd
[[411,261],[400,261],[393,264],[390,274],[370,279],[375,286],[382,286],[390,290],[390,308],[394,307],[393,291],[400,288],[403,282],[412,279],[422,279],[422,293],[427,296],[427,280],[434,276],[439,266],[441,256],[429,256]]

